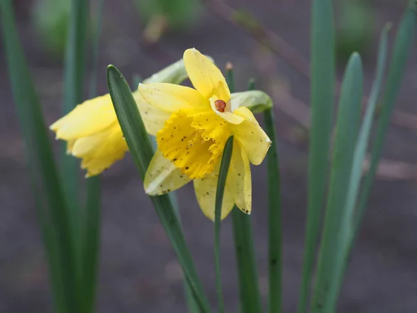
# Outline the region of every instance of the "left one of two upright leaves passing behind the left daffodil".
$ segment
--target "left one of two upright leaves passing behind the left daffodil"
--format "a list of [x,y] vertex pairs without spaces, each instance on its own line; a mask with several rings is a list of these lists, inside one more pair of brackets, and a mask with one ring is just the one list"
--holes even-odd
[[[87,39],[87,21],[90,1],[73,0],[71,3],[70,24],[68,25],[68,41],[64,64],[64,95],[63,113],[67,114],[77,104],[81,103],[85,76],[85,45]],[[70,225],[74,240],[79,240],[79,161],[66,154],[66,143],[62,147],[62,175],[64,179],[65,195],[70,207]],[[77,249],[78,250],[78,249]]]

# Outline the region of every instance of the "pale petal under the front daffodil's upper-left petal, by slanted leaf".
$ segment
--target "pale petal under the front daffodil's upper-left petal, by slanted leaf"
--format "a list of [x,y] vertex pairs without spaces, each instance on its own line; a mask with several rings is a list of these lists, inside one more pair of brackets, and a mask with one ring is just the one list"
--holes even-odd
[[171,113],[158,109],[156,106],[152,106],[147,103],[138,90],[133,92],[132,95],[138,105],[140,116],[142,117],[146,131],[148,134],[156,136],[156,133],[165,125],[165,121],[170,118]]

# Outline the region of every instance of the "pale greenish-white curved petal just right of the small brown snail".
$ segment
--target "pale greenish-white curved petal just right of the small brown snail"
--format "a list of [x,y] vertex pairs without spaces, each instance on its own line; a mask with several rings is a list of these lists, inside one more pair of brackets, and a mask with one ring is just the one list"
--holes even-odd
[[261,90],[232,93],[230,102],[231,112],[235,111],[240,106],[246,106],[252,113],[261,113],[272,107],[272,99]]

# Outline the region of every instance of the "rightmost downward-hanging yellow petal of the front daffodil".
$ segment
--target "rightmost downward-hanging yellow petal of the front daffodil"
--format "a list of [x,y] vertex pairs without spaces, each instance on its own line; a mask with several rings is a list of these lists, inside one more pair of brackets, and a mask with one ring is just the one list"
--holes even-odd
[[246,214],[252,211],[252,179],[250,162],[245,149],[234,140],[231,163],[227,173],[227,186],[234,194],[236,206]]

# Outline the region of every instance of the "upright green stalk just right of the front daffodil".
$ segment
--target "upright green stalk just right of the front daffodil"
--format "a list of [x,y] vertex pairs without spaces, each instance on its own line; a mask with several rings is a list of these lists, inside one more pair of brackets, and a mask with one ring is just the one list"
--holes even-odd
[[282,238],[281,238],[281,183],[273,109],[263,113],[265,132],[272,141],[266,154],[268,175],[268,312],[282,312]]

